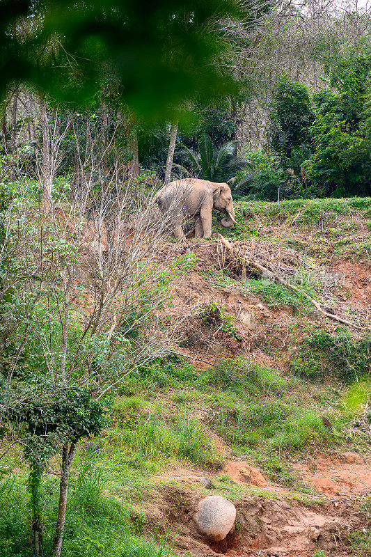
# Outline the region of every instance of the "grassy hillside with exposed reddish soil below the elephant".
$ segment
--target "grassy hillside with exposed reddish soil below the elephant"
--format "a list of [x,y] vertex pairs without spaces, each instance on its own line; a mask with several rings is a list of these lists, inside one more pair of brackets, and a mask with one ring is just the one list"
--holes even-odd
[[[180,342],[80,442],[65,556],[371,555],[371,198],[235,205],[234,229],[157,250],[182,260],[163,310],[184,313]],[[26,479],[17,452],[2,462],[6,557]],[[237,508],[221,542],[194,525],[208,494]]]

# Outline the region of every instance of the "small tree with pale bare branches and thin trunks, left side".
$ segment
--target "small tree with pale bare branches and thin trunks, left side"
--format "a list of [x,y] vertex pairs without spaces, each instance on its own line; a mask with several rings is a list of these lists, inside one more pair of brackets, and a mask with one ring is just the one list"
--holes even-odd
[[17,263],[3,265],[3,292],[15,293],[0,338],[14,347],[1,421],[19,433],[29,463],[35,554],[42,551],[38,485],[61,452],[54,557],[61,555],[79,439],[100,430],[102,405],[125,376],[167,354],[177,339],[175,317],[161,318],[171,293],[166,258],[158,258],[165,220],[152,218],[151,198],[129,196],[119,162],[108,173],[102,168],[104,152],[88,137],[83,151],[76,146],[80,186],[68,211],[52,207],[35,219],[22,192],[3,215]]

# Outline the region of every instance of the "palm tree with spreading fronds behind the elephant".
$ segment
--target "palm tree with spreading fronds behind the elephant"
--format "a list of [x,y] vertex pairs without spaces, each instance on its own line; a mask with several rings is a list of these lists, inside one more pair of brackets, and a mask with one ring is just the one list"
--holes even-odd
[[[210,182],[228,182],[240,170],[251,166],[238,157],[237,141],[228,141],[214,148],[206,134],[198,141],[198,151],[184,147],[180,155],[186,160],[192,174]],[[182,168],[187,171],[184,166]]]

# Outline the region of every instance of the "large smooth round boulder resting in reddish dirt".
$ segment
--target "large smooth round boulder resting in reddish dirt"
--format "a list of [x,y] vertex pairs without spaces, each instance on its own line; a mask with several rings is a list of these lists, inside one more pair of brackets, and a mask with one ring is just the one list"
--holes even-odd
[[214,542],[220,542],[232,530],[235,518],[233,503],[220,495],[209,495],[200,501],[195,521],[200,533]]

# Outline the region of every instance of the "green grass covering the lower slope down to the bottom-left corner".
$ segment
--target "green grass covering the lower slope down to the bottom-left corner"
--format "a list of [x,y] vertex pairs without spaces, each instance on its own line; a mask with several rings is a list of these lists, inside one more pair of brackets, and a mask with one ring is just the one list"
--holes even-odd
[[[177,358],[157,361],[139,370],[130,385],[122,386],[123,391],[135,392],[118,395],[110,409],[111,425],[96,440],[101,452],[86,455],[80,450],[74,463],[64,557],[168,556],[166,537],[159,544],[143,538],[146,505],[160,493],[151,475],[161,475],[167,464],[219,466],[223,455],[213,432],[272,480],[306,494],[290,455],[338,442],[320,417],[330,402],[323,386],[308,391],[307,379],[282,377],[246,359],[222,360],[205,372],[195,372]],[[29,557],[26,483],[8,469],[4,473],[0,555]],[[47,476],[42,485],[46,557],[55,522],[56,481]],[[274,497],[223,476],[213,485],[213,493],[229,499]]]

